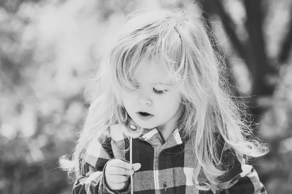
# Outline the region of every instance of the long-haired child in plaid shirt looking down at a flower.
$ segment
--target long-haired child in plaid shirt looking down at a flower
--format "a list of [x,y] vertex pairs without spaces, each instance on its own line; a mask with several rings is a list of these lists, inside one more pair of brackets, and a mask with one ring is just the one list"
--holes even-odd
[[267,149],[248,138],[223,74],[200,15],[128,16],[99,65],[73,165],[60,160],[73,194],[265,194],[247,161]]

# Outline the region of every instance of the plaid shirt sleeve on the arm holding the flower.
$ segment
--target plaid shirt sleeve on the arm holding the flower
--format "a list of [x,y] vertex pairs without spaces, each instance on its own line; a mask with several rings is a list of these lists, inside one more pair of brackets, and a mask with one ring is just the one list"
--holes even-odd
[[[102,142],[102,143],[101,143]],[[127,191],[111,191],[105,181],[105,167],[114,156],[111,138],[93,138],[86,151],[85,173],[79,175],[73,185],[73,194],[127,194]]]

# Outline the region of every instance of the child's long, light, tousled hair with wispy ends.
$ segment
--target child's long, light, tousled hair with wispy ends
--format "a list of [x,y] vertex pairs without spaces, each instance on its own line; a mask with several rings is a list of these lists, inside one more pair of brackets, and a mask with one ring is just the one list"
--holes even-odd
[[[200,14],[189,15],[185,10],[136,11],[128,16],[119,37],[98,66],[92,82],[95,96],[73,153],[73,165],[70,167],[63,157],[63,169],[77,175],[85,172],[85,150],[92,138],[110,125],[127,120],[121,89],[133,89],[134,70],[142,61],[155,57],[164,60],[164,69],[183,96],[184,111],[178,128],[191,141],[196,156],[193,179],[198,189],[210,189],[210,184],[218,184],[219,176],[226,172],[215,132],[242,158],[267,153],[256,139],[247,138],[252,135],[250,125],[242,119],[245,112],[240,111],[230,96],[231,90],[225,87],[225,65],[212,49]],[[201,173],[207,181],[199,179]]]

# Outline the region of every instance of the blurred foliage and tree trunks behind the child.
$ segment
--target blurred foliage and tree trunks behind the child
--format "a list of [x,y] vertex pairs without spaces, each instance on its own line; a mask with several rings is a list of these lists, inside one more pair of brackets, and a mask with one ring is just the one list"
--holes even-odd
[[271,146],[252,161],[269,194],[292,194],[291,0],[0,0],[0,194],[70,194],[70,154],[91,72],[125,15],[203,10],[230,83]]

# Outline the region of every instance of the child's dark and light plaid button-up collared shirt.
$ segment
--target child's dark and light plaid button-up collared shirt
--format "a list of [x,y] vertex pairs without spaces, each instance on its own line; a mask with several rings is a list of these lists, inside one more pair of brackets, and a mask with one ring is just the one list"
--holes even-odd
[[[92,140],[85,158],[87,173],[77,176],[73,194],[130,193],[130,184],[118,192],[110,191],[105,182],[107,162],[114,158],[129,161],[124,129],[124,125],[110,126],[106,134]],[[222,160],[229,164],[224,181],[211,185],[209,191],[198,190],[192,180],[195,156],[191,148],[189,141],[182,141],[178,129],[166,142],[157,129],[145,129],[132,140],[132,162],[142,165],[133,175],[134,194],[266,194],[256,170],[227,148],[222,150]]]

